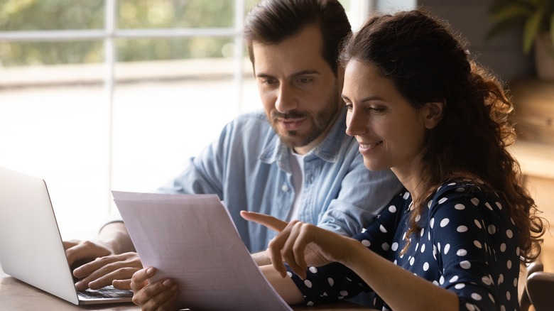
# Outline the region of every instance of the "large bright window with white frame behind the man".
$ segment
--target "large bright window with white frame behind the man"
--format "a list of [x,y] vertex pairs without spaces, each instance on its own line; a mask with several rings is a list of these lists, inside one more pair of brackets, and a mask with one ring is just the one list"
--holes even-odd
[[[155,190],[258,109],[241,22],[256,0],[6,0],[0,165],[44,178],[64,239],[89,239],[110,190]],[[356,29],[374,1],[343,0]]]

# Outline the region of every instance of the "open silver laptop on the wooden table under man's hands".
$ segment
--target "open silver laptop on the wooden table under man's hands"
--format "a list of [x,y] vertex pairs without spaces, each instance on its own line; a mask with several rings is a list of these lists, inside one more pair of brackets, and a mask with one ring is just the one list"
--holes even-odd
[[112,286],[77,292],[45,181],[1,167],[0,266],[75,305],[131,302],[133,296]]

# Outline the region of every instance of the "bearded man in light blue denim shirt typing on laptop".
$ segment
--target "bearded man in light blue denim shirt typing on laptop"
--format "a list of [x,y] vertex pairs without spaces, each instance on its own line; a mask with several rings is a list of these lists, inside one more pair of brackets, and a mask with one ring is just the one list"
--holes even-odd
[[[399,192],[390,170],[369,172],[357,141],[347,136],[337,66],[351,33],[337,0],[264,0],[246,17],[244,38],[264,113],[239,116],[164,193],[214,193],[227,205],[258,263],[275,233],[247,224],[240,210],[300,219],[353,235]],[[124,224],[107,224],[94,241],[66,243],[77,289],[129,288],[141,268]],[[131,252],[131,253],[126,253]],[[113,281],[113,282],[112,282]]]

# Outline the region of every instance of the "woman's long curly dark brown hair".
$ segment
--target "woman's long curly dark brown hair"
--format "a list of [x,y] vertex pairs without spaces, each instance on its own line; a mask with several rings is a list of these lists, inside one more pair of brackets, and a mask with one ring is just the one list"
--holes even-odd
[[408,11],[371,17],[344,43],[340,61],[343,67],[351,59],[379,67],[415,108],[444,103],[442,120],[426,133],[421,170],[428,191],[413,202],[408,244],[418,231],[416,217],[437,187],[470,180],[504,198],[518,228],[521,261],[528,263],[541,252],[545,222],[507,149],[516,141],[509,119],[513,104],[501,82],[469,59],[465,45],[447,23]]

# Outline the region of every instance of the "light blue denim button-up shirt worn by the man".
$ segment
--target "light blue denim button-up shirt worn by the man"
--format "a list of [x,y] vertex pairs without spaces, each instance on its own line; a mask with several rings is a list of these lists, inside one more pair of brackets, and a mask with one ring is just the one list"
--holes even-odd
[[[327,137],[304,158],[298,219],[352,236],[402,185],[391,170],[365,168],[357,141],[345,133],[345,120],[343,109]],[[276,233],[246,222],[239,212],[288,217],[295,198],[290,157],[263,111],[244,114],[227,124],[217,140],[190,158],[185,170],[158,192],[218,195],[249,251],[261,251]]]

